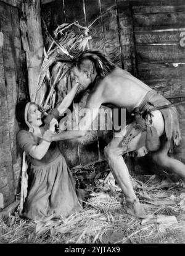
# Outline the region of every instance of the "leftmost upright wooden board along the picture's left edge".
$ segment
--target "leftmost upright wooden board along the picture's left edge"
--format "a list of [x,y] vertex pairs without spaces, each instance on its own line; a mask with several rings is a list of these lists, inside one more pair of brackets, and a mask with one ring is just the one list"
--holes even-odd
[[17,86],[10,6],[3,2],[0,3],[0,17],[0,30],[4,34],[4,46],[0,47],[0,189],[4,195],[4,206],[7,206],[14,201],[12,157],[16,155],[15,104]]

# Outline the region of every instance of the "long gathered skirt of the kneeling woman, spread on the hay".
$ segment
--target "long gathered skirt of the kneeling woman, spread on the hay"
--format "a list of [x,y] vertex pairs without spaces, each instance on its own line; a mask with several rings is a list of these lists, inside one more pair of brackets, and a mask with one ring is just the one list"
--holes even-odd
[[28,219],[66,218],[82,206],[62,154],[46,166],[31,166],[31,185],[23,210]]

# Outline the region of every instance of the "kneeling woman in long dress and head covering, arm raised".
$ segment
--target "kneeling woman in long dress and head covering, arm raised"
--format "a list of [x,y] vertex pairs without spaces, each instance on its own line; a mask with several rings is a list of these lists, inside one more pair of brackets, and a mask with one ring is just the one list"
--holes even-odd
[[78,84],[62,103],[44,118],[44,124],[36,104],[20,102],[16,106],[17,121],[25,125],[25,128],[17,133],[17,141],[31,162],[31,185],[22,214],[25,218],[65,218],[82,208],[76,195],[72,174],[57,144],[42,139],[46,130],[54,131],[57,120],[72,103],[77,90]]

